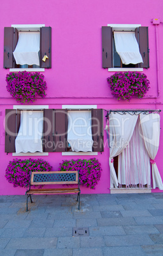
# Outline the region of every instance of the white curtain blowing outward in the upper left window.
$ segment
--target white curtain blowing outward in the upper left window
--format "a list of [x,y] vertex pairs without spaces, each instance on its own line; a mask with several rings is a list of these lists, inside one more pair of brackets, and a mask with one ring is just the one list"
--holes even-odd
[[39,32],[18,32],[18,43],[13,52],[17,64],[39,66]]

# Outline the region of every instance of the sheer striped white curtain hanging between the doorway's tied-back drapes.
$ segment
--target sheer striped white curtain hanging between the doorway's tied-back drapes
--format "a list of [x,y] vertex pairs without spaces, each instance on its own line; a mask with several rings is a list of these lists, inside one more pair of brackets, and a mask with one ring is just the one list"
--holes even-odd
[[129,146],[118,155],[118,183],[126,187],[151,185],[150,157],[145,148],[140,120],[136,122]]

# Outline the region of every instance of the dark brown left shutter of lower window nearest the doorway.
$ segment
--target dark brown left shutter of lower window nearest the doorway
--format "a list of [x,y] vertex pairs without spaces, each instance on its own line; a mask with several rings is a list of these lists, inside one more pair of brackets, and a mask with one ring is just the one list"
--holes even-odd
[[55,110],[55,152],[66,152],[67,110]]

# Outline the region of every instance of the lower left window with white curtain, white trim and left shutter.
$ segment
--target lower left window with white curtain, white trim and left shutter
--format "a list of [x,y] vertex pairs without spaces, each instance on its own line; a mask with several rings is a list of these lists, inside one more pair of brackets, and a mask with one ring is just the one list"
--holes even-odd
[[42,153],[44,152],[42,138],[45,109],[48,109],[47,105],[14,105],[13,110],[6,110],[6,153],[13,153],[13,156],[48,155],[48,153]]

